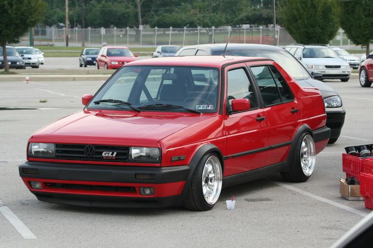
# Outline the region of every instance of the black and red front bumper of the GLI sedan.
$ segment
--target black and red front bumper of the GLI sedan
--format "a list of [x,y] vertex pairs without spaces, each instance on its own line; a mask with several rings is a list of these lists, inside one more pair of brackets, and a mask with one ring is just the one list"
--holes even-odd
[[[152,207],[180,204],[189,166],[133,167],[27,161],[19,175],[39,200],[85,206]],[[137,179],[152,174],[154,179]],[[153,178],[153,177],[152,177]],[[41,182],[33,189],[30,182]],[[141,195],[140,187],[153,187],[153,195]]]

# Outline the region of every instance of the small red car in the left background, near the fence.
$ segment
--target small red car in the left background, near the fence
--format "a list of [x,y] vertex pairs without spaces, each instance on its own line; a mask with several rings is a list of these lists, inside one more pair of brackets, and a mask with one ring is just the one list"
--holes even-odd
[[97,69],[118,69],[124,64],[135,61],[137,54],[133,55],[127,47],[102,47],[97,55]]

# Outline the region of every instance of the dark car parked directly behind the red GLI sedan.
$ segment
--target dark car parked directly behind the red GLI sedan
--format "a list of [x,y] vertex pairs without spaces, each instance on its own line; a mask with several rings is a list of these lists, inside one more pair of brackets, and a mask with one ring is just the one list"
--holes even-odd
[[[226,44],[205,44],[182,47],[175,56],[188,55],[221,55]],[[326,127],[331,129],[329,144],[335,143],[341,135],[345,122],[346,111],[342,105],[342,99],[337,91],[322,81],[316,80],[321,77],[320,73],[313,76],[308,70],[286,50],[269,45],[259,44],[229,44],[225,55],[265,57],[280,64],[296,82],[302,87],[318,88],[324,99],[327,119]],[[315,78],[316,79],[315,79]]]

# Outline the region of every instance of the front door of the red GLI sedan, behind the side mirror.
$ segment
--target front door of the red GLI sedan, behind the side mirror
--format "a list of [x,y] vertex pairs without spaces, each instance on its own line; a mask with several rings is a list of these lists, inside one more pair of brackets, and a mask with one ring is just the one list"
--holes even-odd
[[[227,159],[224,176],[230,176],[265,165],[268,126],[265,111],[258,104],[257,88],[250,80],[245,63],[225,68]],[[233,112],[232,100],[246,98],[250,109]]]

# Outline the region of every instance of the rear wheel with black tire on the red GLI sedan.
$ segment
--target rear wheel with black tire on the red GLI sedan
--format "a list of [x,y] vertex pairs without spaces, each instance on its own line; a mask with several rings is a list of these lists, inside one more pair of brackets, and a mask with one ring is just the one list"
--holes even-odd
[[304,133],[296,142],[290,170],[281,172],[281,176],[289,182],[306,182],[315,169],[315,142],[310,133]]

